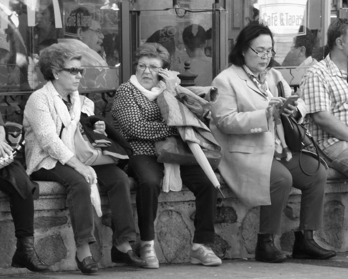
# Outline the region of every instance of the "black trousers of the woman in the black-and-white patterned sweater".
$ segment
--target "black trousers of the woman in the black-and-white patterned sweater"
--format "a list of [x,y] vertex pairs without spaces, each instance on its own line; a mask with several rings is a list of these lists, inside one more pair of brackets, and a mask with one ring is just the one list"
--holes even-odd
[[[153,222],[156,219],[158,196],[161,192],[164,165],[157,158],[136,155],[129,160],[129,175],[135,177],[139,186],[136,192],[136,208],[140,239],[155,239]],[[214,242],[214,221],[217,190],[200,166],[180,166],[183,184],[196,197],[195,235],[193,242],[211,244]]]

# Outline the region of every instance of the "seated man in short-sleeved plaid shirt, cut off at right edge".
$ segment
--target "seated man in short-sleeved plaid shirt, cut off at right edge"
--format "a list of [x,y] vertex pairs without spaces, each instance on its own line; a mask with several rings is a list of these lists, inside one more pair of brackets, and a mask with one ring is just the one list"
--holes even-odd
[[[310,67],[300,84],[307,105],[305,123],[319,146],[348,175],[348,19],[338,18],[327,30],[329,55]],[[301,96],[301,95],[300,95]]]

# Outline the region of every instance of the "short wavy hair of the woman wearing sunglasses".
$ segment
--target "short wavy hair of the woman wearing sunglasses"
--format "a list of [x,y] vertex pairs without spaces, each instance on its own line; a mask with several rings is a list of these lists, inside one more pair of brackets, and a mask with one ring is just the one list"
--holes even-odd
[[68,43],[54,43],[44,48],[40,53],[39,67],[45,80],[54,80],[53,72],[61,71],[65,62],[76,59],[81,60],[82,53]]

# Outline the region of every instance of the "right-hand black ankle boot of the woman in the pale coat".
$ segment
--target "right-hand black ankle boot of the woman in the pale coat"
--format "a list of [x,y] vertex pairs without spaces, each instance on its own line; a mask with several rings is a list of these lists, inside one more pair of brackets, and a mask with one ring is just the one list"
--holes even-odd
[[310,258],[315,260],[325,260],[336,256],[333,250],[326,250],[320,247],[313,239],[313,231],[306,231],[306,238],[301,231],[294,232],[295,242],[292,248],[293,258]]

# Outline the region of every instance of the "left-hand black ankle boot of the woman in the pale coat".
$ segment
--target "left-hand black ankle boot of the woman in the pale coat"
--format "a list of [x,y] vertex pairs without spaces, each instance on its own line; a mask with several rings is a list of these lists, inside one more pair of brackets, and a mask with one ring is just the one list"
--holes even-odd
[[258,234],[255,260],[266,263],[281,263],[286,261],[285,254],[274,246],[274,235],[270,233]]

